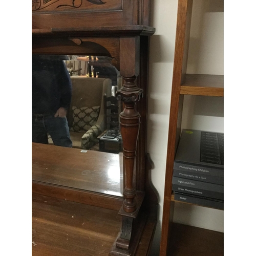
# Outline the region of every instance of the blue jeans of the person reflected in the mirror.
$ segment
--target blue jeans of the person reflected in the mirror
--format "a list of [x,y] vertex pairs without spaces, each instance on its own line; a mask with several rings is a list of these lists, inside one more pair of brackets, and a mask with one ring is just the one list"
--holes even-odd
[[72,147],[66,117],[32,114],[32,142],[49,144],[47,133],[50,134],[54,145]]

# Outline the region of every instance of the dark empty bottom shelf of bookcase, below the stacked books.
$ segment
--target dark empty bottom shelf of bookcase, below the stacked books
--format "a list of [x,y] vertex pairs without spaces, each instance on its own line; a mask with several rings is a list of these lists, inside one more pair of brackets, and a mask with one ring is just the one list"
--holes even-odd
[[224,233],[173,223],[169,240],[172,256],[224,255]]

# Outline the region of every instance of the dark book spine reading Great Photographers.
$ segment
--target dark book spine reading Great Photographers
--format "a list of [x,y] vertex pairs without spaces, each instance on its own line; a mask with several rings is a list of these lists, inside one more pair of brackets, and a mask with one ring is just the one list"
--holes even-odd
[[224,200],[224,193],[219,193],[215,191],[209,191],[199,188],[191,188],[187,186],[181,186],[173,184],[173,190],[178,193],[190,194],[194,196],[207,197],[212,199]]

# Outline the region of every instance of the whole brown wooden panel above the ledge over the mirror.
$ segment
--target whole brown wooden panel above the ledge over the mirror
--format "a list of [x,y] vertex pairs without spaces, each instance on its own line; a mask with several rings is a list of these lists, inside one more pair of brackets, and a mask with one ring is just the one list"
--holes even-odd
[[149,26],[149,0],[32,0],[32,29]]

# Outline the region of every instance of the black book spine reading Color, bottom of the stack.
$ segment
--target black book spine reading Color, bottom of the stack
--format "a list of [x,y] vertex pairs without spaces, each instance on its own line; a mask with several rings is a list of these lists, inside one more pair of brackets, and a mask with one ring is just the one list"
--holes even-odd
[[178,193],[175,193],[174,199],[176,201],[181,201],[181,202],[186,202],[191,204],[198,204],[198,205],[212,207],[220,210],[224,209],[224,202],[220,202],[220,201],[214,201],[214,200],[193,197],[193,196],[188,196],[188,195],[178,194]]

